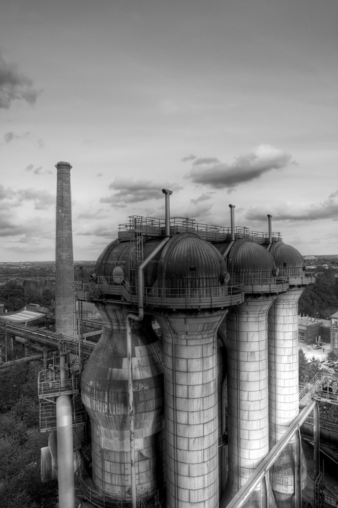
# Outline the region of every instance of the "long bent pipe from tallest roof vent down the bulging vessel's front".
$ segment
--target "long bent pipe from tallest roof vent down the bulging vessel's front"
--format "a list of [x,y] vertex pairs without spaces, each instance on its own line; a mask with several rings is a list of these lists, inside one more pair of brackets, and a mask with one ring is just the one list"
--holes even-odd
[[166,237],[162,242],[142,261],[138,267],[137,283],[138,283],[138,314],[128,314],[126,319],[127,328],[127,363],[128,363],[128,398],[129,398],[129,419],[130,419],[130,464],[131,464],[131,483],[132,483],[132,507],[136,508],[136,475],[135,475],[135,431],[134,431],[134,393],[133,393],[133,377],[132,377],[132,325],[131,320],[142,321],[144,317],[144,268],[148,263],[157,256],[163,247],[170,240],[170,207],[169,196],[172,190],[162,189],[165,194],[165,234]]

